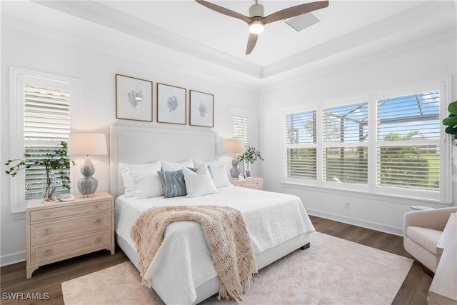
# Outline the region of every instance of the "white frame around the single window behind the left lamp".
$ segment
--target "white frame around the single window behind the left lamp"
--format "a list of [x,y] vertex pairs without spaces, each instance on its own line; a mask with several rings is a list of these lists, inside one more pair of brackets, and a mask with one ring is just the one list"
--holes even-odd
[[[10,99],[10,157],[9,159],[24,159],[25,140],[24,140],[24,84],[33,80],[40,85],[59,86],[71,93],[70,104],[70,129],[74,129],[77,119],[77,101],[79,91],[79,79],[66,76],[47,74],[39,71],[11,68],[11,99]],[[73,166],[74,167],[74,166]],[[76,188],[76,171],[70,169],[71,189]],[[11,214],[19,214],[25,211],[27,202],[25,200],[25,171],[10,179],[10,209]]]

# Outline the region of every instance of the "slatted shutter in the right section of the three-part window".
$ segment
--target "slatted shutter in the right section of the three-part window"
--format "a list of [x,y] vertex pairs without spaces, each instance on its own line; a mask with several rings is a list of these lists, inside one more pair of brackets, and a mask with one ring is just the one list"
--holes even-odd
[[440,93],[379,99],[377,185],[438,190]]

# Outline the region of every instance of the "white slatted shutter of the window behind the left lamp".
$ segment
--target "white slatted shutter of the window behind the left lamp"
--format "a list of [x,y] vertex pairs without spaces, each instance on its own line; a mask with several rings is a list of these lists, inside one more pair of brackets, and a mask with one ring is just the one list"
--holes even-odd
[[[44,159],[61,141],[68,141],[70,103],[69,91],[24,84],[24,152],[31,159]],[[43,177],[42,166],[25,170],[26,200],[41,198]],[[56,184],[57,194],[68,193],[61,186],[60,176],[56,176]]]

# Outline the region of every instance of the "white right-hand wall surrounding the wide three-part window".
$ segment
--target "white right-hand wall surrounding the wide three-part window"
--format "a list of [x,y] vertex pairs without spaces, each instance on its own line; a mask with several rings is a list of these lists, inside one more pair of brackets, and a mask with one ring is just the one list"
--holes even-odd
[[[389,46],[391,47],[391,46]],[[398,51],[391,49],[372,54],[363,59],[341,61],[332,66],[321,66],[289,84],[278,84],[261,92],[260,117],[263,185],[271,191],[296,194],[301,198],[309,214],[358,224],[372,229],[402,234],[403,214],[411,211],[411,205],[439,206],[426,201],[396,199],[388,196],[355,194],[306,186],[281,184],[283,172],[282,107],[296,104],[331,101],[362,96],[385,89],[420,81],[430,81],[452,76],[452,101],[456,95],[456,39],[443,36],[430,44],[411,44]],[[383,53],[383,52],[386,53]],[[316,68],[316,67],[314,67]],[[454,160],[456,158],[454,148]],[[456,161],[453,178],[456,180]],[[453,205],[457,202],[456,182],[453,183]],[[350,202],[350,209],[345,209]]]

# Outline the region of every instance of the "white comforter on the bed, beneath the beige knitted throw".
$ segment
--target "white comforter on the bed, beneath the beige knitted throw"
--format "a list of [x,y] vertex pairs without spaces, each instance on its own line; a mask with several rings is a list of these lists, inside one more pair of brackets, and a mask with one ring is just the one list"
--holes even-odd
[[[241,211],[246,221],[255,254],[314,227],[297,196],[243,189],[235,186],[219,188],[219,194],[195,198],[116,199],[116,233],[136,249],[130,228],[143,211],[152,206],[219,205]],[[211,254],[201,226],[194,221],[170,224],[164,242],[154,257],[145,277],[153,279],[153,287],[166,304],[192,304],[195,287],[216,276]]]

